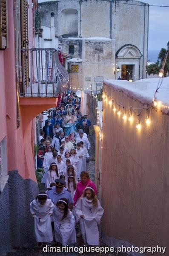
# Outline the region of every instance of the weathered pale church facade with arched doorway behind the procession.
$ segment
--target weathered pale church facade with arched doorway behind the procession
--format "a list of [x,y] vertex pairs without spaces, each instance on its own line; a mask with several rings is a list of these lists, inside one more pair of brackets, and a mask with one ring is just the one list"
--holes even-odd
[[[39,0],[68,59],[72,89],[96,90],[103,79],[146,78],[149,5],[134,0]],[[45,30],[44,30],[45,32]],[[45,33],[44,33],[45,34]],[[48,40],[49,38],[44,38]]]

